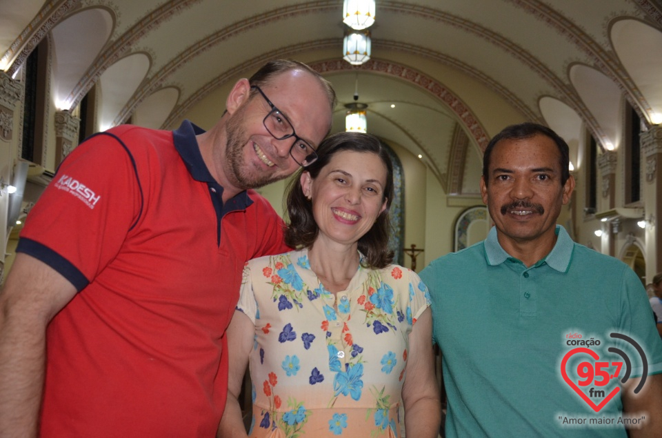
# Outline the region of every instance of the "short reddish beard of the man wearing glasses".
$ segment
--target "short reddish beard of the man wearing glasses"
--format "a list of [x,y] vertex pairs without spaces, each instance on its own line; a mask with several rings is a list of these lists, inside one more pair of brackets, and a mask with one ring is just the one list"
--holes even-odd
[[274,178],[272,175],[263,175],[261,172],[254,170],[250,172],[248,166],[244,162],[243,149],[246,147],[249,138],[243,129],[241,121],[244,117],[244,109],[237,110],[234,114],[230,115],[228,122],[225,123],[225,132],[227,133],[227,141],[225,145],[225,160],[227,161],[226,169],[229,170],[230,175],[226,175],[232,184],[242,190],[249,188],[260,188],[278,181],[281,178]]

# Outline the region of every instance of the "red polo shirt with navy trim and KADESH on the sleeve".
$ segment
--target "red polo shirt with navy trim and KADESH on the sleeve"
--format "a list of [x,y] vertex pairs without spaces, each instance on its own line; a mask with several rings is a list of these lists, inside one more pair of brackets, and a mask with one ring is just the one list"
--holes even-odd
[[96,135],[28,215],[17,250],[79,290],[48,326],[42,437],[214,436],[243,264],[288,248],[255,192],[223,204],[201,132]]

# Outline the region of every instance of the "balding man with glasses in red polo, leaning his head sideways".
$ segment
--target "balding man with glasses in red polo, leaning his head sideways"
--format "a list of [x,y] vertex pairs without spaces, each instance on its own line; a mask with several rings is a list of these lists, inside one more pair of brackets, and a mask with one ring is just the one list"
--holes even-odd
[[334,103],[273,61],[208,132],[119,126],[76,148],[0,293],[0,436],[214,436],[243,264],[286,250],[250,189],[317,159]]

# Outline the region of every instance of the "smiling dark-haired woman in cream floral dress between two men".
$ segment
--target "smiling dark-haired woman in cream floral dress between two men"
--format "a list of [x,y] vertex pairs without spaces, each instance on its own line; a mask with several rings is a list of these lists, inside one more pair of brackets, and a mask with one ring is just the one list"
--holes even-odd
[[289,188],[297,250],[245,266],[219,436],[247,436],[237,397],[250,362],[250,437],[436,438],[428,289],[387,248],[390,159],[352,132],[317,152]]

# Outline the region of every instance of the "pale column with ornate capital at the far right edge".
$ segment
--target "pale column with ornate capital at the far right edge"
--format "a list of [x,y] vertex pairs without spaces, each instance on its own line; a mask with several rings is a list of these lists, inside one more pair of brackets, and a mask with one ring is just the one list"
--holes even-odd
[[643,183],[645,206],[646,281],[662,272],[662,126],[651,126],[641,132],[641,163],[646,177]]

